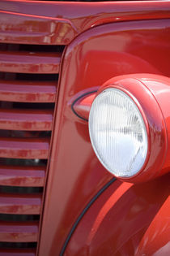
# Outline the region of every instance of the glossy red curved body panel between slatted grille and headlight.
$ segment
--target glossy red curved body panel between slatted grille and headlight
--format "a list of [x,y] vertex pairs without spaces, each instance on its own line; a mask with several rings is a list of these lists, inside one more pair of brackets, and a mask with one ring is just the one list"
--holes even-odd
[[[70,102],[77,93],[83,94],[113,76],[141,72],[170,76],[169,40],[170,20],[141,20],[91,28],[67,47],[53,128],[40,255],[59,254],[79,214],[112,178],[92,151],[87,122],[74,115]],[[150,207],[146,202],[145,210]],[[57,216],[55,221],[53,216]],[[141,218],[147,218],[144,211]],[[124,223],[120,221],[120,225],[123,230]]]

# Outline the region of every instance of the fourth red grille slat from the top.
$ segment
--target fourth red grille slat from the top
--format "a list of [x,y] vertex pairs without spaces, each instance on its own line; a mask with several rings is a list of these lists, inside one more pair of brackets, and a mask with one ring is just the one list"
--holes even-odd
[[0,138],[1,158],[46,159],[49,154],[49,139]]

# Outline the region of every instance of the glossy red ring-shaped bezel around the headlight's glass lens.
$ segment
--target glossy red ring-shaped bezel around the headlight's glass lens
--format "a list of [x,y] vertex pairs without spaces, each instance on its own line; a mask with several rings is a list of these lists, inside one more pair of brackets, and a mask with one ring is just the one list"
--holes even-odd
[[133,75],[117,76],[108,80],[100,87],[96,97],[108,88],[120,89],[134,101],[147,130],[147,156],[142,168],[134,176],[118,179],[134,183],[151,180],[152,177],[159,175],[167,152],[166,124],[155,95]]

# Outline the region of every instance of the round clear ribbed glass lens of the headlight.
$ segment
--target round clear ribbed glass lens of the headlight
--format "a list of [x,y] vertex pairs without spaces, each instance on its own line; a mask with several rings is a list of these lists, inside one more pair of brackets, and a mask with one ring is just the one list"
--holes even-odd
[[109,88],[91,105],[91,144],[100,162],[117,177],[134,176],[147,158],[147,129],[135,102],[121,89]]

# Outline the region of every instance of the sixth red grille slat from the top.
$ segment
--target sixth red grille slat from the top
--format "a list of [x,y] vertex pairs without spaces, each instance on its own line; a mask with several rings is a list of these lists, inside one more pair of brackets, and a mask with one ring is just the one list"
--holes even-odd
[[40,215],[40,194],[1,193],[0,214]]

